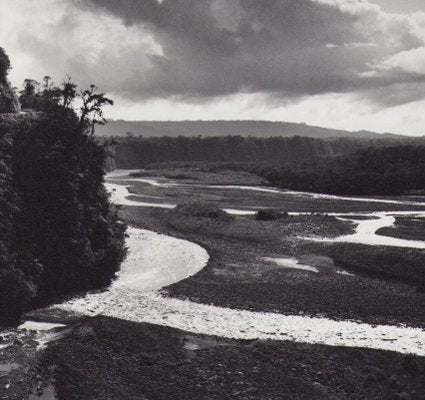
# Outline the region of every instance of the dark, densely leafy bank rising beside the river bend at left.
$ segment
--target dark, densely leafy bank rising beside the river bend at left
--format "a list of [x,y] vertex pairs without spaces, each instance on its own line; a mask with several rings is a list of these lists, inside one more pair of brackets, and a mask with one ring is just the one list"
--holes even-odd
[[63,96],[38,112],[0,115],[0,321],[99,288],[125,257],[109,202],[104,150]]

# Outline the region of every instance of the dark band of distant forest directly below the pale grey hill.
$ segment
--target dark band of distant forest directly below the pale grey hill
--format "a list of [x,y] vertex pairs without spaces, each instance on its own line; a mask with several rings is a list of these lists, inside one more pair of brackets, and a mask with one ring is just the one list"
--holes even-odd
[[235,162],[294,165],[336,157],[394,140],[322,140],[306,137],[126,137],[116,138],[117,168],[144,168],[157,162]]

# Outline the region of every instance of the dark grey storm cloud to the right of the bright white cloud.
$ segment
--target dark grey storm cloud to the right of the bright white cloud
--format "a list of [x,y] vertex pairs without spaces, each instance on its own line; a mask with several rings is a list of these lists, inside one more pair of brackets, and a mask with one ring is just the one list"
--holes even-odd
[[406,74],[368,75],[370,64],[423,45],[408,19],[355,0],[91,0],[91,8],[144,26],[161,46],[127,93],[135,98],[382,88]]

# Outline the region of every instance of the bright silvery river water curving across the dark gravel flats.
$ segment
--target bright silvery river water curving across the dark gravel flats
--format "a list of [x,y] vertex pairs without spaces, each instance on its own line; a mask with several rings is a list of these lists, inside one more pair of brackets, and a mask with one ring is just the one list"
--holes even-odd
[[[146,206],[137,201],[129,204],[127,190],[117,188],[115,184],[108,183],[107,186],[117,204]],[[376,229],[391,225],[393,218],[387,214],[372,213],[370,220],[357,221],[358,227],[351,239],[355,241],[363,235],[369,240],[376,235]],[[386,243],[394,240],[382,238]],[[347,237],[345,240],[349,241]],[[375,241],[370,244],[383,243]],[[423,245],[423,242],[419,243]],[[418,247],[416,242],[411,244]],[[226,338],[291,340],[425,356],[425,332],[418,328],[250,312],[166,297],[160,289],[201,270],[208,262],[207,252],[197,244],[137,228],[129,229],[127,245],[129,256],[117,280],[107,291],[88,294],[54,307]]]

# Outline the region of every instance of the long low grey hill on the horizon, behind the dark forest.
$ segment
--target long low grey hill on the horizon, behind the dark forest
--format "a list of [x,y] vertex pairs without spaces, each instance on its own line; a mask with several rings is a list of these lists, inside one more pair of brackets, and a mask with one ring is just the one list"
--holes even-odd
[[390,133],[349,132],[306,124],[271,121],[123,121],[110,120],[96,130],[99,136],[305,136],[311,138],[405,138]]

